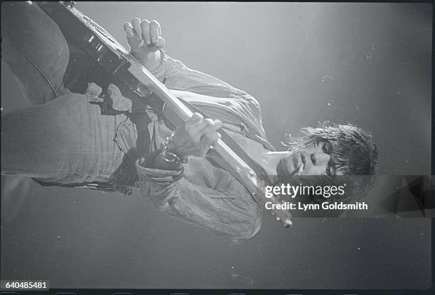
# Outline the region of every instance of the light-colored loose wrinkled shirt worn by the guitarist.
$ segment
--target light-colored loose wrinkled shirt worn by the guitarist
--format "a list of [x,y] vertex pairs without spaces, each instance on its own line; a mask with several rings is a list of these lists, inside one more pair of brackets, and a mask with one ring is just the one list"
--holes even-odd
[[[176,96],[220,119],[248,155],[274,150],[264,133],[259,103],[245,91],[164,55],[153,74],[160,80],[167,77],[166,87]],[[167,108],[164,111],[168,118],[173,116]],[[150,118],[151,152],[156,155],[172,131],[156,116]],[[136,162],[141,194],[161,211],[232,239],[250,238],[261,226],[262,208],[244,185],[221,167],[225,164],[213,151],[205,158],[189,157],[179,171]]]

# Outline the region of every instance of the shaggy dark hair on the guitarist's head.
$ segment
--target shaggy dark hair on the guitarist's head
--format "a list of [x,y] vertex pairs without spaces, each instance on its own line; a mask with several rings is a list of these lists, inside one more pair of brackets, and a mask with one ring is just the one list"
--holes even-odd
[[345,181],[348,201],[357,201],[374,186],[378,151],[370,133],[352,124],[330,122],[319,122],[318,127],[302,128],[300,132],[296,137],[286,134],[287,142],[283,145],[296,152],[313,143],[328,143],[333,165],[343,176],[323,180],[329,183],[336,183],[338,179],[341,183]]

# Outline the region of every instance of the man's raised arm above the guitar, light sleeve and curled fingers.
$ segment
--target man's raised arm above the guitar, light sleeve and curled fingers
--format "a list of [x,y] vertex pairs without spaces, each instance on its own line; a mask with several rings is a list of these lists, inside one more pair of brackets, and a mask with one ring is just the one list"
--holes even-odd
[[172,90],[189,91],[203,94],[209,105],[222,105],[230,102],[248,121],[255,126],[257,133],[265,137],[262,127],[262,113],[257,99],[247,92],[232,87],[230,84],[203,72],[190,69],[183,62],[168,57],[162,50],[166,41],[161,36],[157,21],[141,21],[134,18],[125,23],[124,29],[130,45],[130,52],[139,62],[146,66],[157,79],[167,78],[166,87]]

